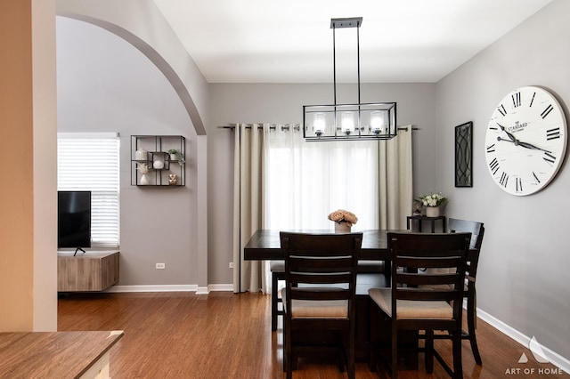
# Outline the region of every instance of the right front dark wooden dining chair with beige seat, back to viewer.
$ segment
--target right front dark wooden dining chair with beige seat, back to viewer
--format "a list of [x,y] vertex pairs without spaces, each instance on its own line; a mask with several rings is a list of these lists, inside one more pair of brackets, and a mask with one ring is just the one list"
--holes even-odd
[[[391,287],[371,288],[371,351],[369,365],[376,369],[376,333],[381,323],[390,327],[389,353],[385,359],[392,378],[398,374],[398,335],[416,331],[424,346],[414,350],[425,354],[428,374],[433,359],[453,378],[462,378],[461,316],[470,233],[387,233],[392,260]],[[445,269],[447,272],[421,272],[419,269]],[[434,286],[428,288],[427,286]],[[419,331],[424,331],[419,335]],[[452,340],[453,369],[434,348],[435,331],[447,331]]]

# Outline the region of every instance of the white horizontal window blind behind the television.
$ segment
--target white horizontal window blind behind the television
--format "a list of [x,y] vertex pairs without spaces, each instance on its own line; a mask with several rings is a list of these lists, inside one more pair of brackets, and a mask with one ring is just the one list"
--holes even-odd
[[119,244],[118,133],[58,133],[58,190],[91,191],[91,246]]

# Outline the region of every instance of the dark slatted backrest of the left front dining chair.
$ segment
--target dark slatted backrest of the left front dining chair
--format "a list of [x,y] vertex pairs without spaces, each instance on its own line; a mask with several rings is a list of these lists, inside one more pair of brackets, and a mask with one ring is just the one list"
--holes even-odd
[[362,233],[281,232],[286,301],[354,298]]

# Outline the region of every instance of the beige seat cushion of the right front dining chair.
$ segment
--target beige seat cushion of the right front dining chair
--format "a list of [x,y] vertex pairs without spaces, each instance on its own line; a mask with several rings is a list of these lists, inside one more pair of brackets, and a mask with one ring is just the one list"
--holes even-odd
[[[392,288],[371,288],[371,299],[392,317]],[[453,309],[447,302],[399,300],[397,319],[452,319]]]

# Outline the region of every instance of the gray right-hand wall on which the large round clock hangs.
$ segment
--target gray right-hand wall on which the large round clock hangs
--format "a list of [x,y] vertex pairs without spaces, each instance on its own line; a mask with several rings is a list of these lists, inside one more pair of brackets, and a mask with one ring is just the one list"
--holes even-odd
[[[570,167],[541,192],[515,197],[499,189],[485,161],[493,109],[510,91],[539,85],[555,94],[570,120],[570,2],[555,1],[437,84],[434,172],[451,201],[447,213],[485,222],[477,305],[570,358],[570,254],[566,215]],[[474,187],[453,187],[453,127],[474,125]],[[426,188],[420,183],[422,189]]]

